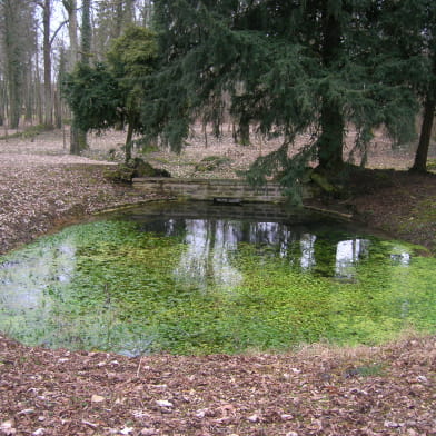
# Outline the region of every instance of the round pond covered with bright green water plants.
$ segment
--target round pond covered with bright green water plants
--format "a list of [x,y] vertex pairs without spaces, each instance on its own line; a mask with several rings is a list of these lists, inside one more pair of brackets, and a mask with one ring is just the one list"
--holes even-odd
[[149,353],[379,344],[435,331],[436,259],[279,206],[155,204],[0,257],[0,331]]

